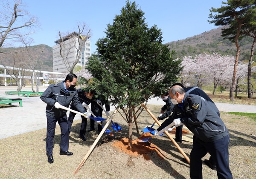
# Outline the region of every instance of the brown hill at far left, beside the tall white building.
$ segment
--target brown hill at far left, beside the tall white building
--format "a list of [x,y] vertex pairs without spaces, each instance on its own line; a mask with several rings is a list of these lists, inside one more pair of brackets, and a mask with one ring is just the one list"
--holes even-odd
[[[20,48],[1,48],[1,51],[3,52],[9,52],[9,51],[20,51],[22,47]],[[32,57],[38,58],[38,60],[41,60],[41,64],[38,64],[35,67],[35,70],[42,70],[42,71],[52,71],[52,47],[49,47],[48,45],[34,45],[30,46]],[[5,56],[4,61],[0,61],[0,65],[6,65],[6,66],[12,66],[12,56]],[[4,64],[1,64],[4,63]],[[15,66],[18,67],[18,66]]]

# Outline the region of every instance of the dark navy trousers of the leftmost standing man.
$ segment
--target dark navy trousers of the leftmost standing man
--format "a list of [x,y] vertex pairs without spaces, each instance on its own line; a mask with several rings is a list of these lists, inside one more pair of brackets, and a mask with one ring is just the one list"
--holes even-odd
[[60,143],[60,149],[61,151],[68,151],[69,147],[69,133],[68,133],[68,125],[67,125],[67,115],[61,117],[61,118],[55,118],[49,115],[46,115],[47,117],[47,134],[46,134],[46,152],[47,155],[52,154],[53,150],[53,139],[55,136],[55,128],[56,123],[58,121],[58,124],[61,128],[61,143]]

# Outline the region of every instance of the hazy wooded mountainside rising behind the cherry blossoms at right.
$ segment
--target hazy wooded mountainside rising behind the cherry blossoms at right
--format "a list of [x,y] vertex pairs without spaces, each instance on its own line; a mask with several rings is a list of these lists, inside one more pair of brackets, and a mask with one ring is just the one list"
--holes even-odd
[[[222,55],[236,55],[236,45],[228,39],[221,37],[221,28],[215,28],[210,31],[205,31],[202,34],[188,37],[184,40],[178,40],[166,43],[170,51],[174,50],[177,57],[195,56],[200,53],[216,53]],[[239,60],[248,60],[250,57],[251,46],[253,43],[252,37],[244,37],[239,40],[240,56]]]

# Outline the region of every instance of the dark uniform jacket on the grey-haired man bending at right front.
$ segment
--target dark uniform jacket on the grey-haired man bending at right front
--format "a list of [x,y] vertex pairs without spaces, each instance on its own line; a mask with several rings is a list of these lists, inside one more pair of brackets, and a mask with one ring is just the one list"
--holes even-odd
[[212,142],[228,135],[224,122],[208,102],[195,94],[185,94],[183,108],[175,108],[180,121],[200,140]]

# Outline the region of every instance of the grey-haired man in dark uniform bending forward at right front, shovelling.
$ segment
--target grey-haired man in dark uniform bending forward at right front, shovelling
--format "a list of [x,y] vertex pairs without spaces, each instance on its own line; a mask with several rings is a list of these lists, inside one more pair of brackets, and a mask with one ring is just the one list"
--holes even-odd
[[194,134],[190,178],[202,179],[201,159],[209,152],[216,164],[218,178],[232,179],[228,152],[230,138],[224,122],[203,97],[188,94],[179,85],[170,88],[169,95],[176,104],[175,127],[184,124]]

